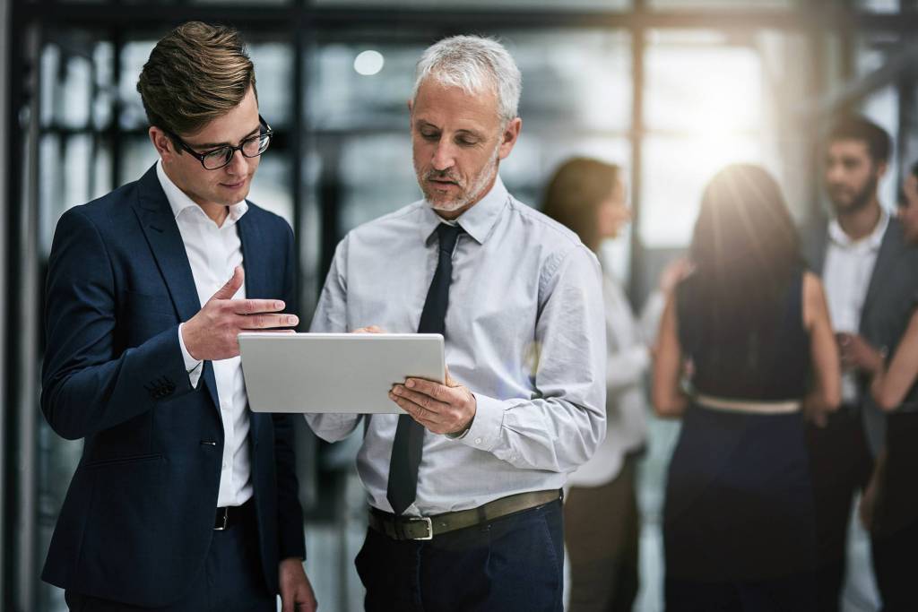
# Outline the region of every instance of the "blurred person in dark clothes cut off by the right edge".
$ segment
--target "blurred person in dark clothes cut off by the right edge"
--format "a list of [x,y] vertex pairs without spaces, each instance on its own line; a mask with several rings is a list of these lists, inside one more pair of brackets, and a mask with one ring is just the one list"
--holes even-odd
[[[918,243],[918,164],[902,185],[899,208],[902,236]],[[897,269],[914,274],[913,248]],[[888,412],[883,445],[861,503],[861,519],[870,531],[873,569],[884,612],[918,610],[914,568],[918,562],[918,295],[904,296],[898,320],[870,340],[852,335],[843,345],[843,359],[870,378],[872,399]],[[903,316],[904,315],[904,316]],[[877,347],[877,348],[875,348]],[[889,362],[887,358],[889,359]]]

